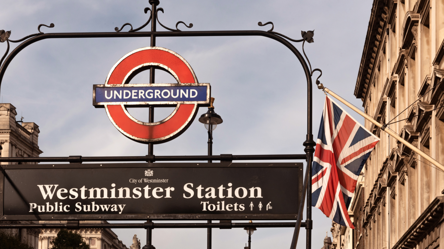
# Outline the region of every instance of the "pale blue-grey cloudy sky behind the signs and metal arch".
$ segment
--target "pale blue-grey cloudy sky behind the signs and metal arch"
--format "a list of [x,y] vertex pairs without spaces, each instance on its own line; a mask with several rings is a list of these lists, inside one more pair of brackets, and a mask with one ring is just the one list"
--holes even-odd
[[[2,0],[0,29],[10,39],[37,33],[41,23],[48,32],[113,32],[123,23],[134,28],[145,23],[151,7],[147,0]],[[320,81],[335,93],[362,106],[353,96],[372,1],[345,0],[161,0],[159,20],[167,27],[178,21],[191,29],[263,30],[258,22],[274,23],[274,31],[301,39],[301,31],[314,30],[314,43],[305,44],[313,68],[322,70]],[[124,27],[127,31],[129,27]],[[123,32],[122,31],[122,32]],[[149,31],[149,26],[142,31]],[[158,31],[165,31],[158,26]],[[301,51],[301,43],[293,43]],[[215,112],[223,123],[214,130],[213,154],[303,154],[306,135],[306,79],[297,58],[281,43],[265,37],[157,38],[156,45],[180,54],[200,83],[211,84]],[[11,49],[17,43],[11,44]],[[17,120],[40,126],[40,156],[144,156],[147,145],[123,136],[104,109],[91,103],[92,85],[103,84],[111,67],[123,55],[150,46],[149,38],[46,39],[34,43],[9,65],[0,96],[17,109]],[[6,43],[0,43],[1,53]],[[317,77],[317,73],[315,73]],[[313,76],[313,82],[315,81]],[[149,71],[132,84],[149,82]],[[156,83],[175,83],[156,70]],[[313,87],[313,134],[316,137],[325,101]],[[341,105],[357,121],[363,118]],[[148,121],[145,108],[128,109]],[[155,121],[173,108],[157,108]],[[200,108],[199,117],[206,112]],[[157,156],[206,155],[207,134],[197,118],[178,138],[154,146]],[[305,161],[300,161],[304,162]],[[305,217],[305,214],[304,214]],[[140,221],[139,221],[140,222]],[[322,246],[331,220],[313,208],[313,248]],[[129,248],[137,234],[145,244],[145,230],[114,230]],[[254,248],[288,248],[292,228],[262,228],[252,235]],[[329,233],[329,236],[331,234]],[[297,248],[305,248],[301,229]],[[242,229],[213,229],[213,248],[242,248],[248,240]],[[155,229],[153,245],[163,248],[206,248],[206,229]]]

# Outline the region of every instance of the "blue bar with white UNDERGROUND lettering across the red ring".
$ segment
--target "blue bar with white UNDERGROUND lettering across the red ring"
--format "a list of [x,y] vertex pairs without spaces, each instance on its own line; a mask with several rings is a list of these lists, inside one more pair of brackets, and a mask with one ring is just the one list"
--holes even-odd
[[206,101],[207,86],[96,87],[95,102]]

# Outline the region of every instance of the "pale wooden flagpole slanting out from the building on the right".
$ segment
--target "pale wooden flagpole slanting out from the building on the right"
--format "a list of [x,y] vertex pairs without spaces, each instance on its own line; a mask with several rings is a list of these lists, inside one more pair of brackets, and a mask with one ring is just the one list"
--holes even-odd
[[322,84],[319,84],[317,86],[317,88],[322,89],[325,93],[329,93],[331,96],[335,97],[337,100],[341,101],[344,105],[347,105],[350,109],[352,109],[353,111],[357,112],[359,115],[361,115],[362,117],[364,117],[365,119],[367,119],[368,121],[372,122],[373,124],[375,124],[377,127],[381,128],[381,130],[387,132],[390,136],[394,137],[396,140],[400,141],[402,144],[404,144],[405,146],[407,146],[408,148],[410,148],[412,151],[418,153],[418,155],[422,156],[423,158],[425,158],[426,160],[428,160],[429,162],[433,163],[436,167],[440,168],[440,170],[444,171],[444,166],[441,163],[438,163],[435,159],[433,159],[432,157],[428,156],[427,154],[425,154],[423,151],[421,151],[420,149],[418,149],[417,147],[413,146],[413,144],[410,144],[409,142],[407,142],[406,140],[404,140],[402,137],[398,136],[395,132],[392,132],[390,129],[386,129],[385,127],[383,127],[383,125],[381,123],[379,123],[378,121],[374,120],[373,117],[371,117],[370,115],[368,115],[367,113],[364,113],[363,111],[361,111],[360,109],[357,109],[354,105],[350,104],[348,101],[346,101],[345,99],[339,97],[336,93],[333,93],[330,89],[322,86]]

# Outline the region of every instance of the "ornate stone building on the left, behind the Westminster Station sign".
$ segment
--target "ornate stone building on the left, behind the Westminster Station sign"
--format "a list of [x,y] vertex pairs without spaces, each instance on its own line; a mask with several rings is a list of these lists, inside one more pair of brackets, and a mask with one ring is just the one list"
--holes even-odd
[[[38,146],[39,126],[32,122],[17,122],[16,108],[9,103],[0,103],[0,155],[1,157],[38,157],[43,153]],[[9,164],[1,163],[1,167]],[[22,164],[22,163],[18,163]],[[23,162],[23,164],[26,164]],[[0,216],[2,214],[0,213]],[[32,223],[34,221],[0,221],[1,223]],[[38,222],[38,221],[35,221]],[[35,223],[34,222],[34,223]],[[66,223],[66,221],[40,221],[40,223]],[[80,221],[80,223],[98,223],[99,221]],[[106,221],[101,221],[106,223]],[[128,249],[117,235],[110,229],[81,229],[76,230],[90,245],[91,249]],[[8,232],[17,234],[22,241],[32,245],[35,249],[50,249],[49,243],[57,236],[59,229],[10,229]],[[136,243],[131,249],[140,249],[140,241],[133,238]]]

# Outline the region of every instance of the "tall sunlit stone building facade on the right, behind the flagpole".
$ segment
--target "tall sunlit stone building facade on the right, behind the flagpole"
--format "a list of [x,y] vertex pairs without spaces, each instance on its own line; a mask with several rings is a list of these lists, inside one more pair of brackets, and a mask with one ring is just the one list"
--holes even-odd
[[[440,163],[443,58],[444,0],[373,1],[354,95],[366,113]],[[364,240],[353,247],[444,248],[444,173],[369,121],[365,127],[381,141],[365,164],[363,208],[353,213],[361,228],[355,236]]]

